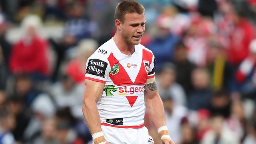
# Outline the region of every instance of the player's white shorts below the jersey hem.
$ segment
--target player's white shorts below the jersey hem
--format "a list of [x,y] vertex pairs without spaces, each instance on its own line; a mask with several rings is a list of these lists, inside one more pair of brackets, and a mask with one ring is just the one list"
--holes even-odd
[[139,129],[101,126],[101,129],[106,141],[112,144],[154,144],[145,126]]

